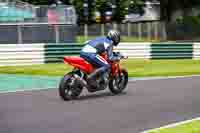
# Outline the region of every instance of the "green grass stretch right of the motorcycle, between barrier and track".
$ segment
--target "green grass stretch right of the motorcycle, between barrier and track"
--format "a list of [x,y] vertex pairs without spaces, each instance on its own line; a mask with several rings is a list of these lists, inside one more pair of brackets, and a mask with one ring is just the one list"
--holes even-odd
[[200,74],[199,60],[129,60],[124,62],[131,77],[185,76]]

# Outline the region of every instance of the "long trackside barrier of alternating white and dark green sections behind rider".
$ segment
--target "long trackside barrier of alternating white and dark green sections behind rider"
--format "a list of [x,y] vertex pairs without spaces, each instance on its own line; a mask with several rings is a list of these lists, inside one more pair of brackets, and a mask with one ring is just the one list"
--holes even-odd
[[[62,62],[79,55],[84,45],[0,44],[0,66]],[[137,59],[200,59],[200,43],[121,43],[115,51]]]

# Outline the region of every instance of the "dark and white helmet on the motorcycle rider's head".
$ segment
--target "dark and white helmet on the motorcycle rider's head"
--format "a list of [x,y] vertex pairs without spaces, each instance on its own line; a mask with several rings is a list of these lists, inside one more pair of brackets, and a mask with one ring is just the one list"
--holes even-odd
[[120,33],[117,30],[110,30],[107,35],[113,41],[113,45],[117,46],[120,42]]

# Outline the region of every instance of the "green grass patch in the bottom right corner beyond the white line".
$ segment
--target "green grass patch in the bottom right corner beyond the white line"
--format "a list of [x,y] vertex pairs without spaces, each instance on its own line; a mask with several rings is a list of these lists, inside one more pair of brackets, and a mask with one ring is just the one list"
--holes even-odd
[[148,133],[200,133],[200,120],[192,121],[173,128],[157,129]]

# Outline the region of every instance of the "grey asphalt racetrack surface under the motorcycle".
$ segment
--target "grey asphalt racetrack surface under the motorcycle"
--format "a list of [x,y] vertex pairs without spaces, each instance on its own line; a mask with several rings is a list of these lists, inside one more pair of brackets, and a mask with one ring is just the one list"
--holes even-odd
[[62,101],[57,90],[0,94],[0,133],[139,133],[200,116],[200,77],[141,80],[125,93]]

